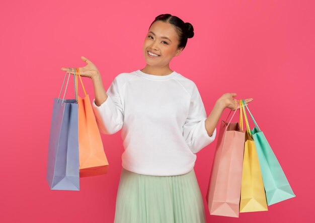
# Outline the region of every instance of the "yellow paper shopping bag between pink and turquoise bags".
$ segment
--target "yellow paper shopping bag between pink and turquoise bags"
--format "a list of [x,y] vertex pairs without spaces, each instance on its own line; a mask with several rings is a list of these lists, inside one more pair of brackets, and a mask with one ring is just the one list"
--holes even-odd
[[245,101],[240,102],[246,122],[240,212],[264,211],[268,207],[258,155],[243,104]]

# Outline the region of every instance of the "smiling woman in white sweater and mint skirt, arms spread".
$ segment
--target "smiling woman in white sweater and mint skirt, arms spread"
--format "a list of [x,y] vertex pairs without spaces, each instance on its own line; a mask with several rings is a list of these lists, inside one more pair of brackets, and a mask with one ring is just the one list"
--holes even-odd
[[82,57],[87,65],[79,68],[80,75],[93,81],[100,131],[122,129],[125,151],[115,222],[206,222],[195,154],[214,140],[223,110],[239,107],[233,99],[237,94],[226,93],[206,117],[194,82],[170,68],[193,36],[190,23],[170,14],[157,16],[144,40],[146,66],[120,73],[107,92],[97,67]]

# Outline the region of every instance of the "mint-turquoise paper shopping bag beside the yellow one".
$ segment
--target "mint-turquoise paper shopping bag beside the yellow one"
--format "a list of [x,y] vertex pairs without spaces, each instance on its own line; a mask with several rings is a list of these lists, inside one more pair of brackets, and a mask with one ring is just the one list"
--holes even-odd
[[261,131],[250,112],[246,103],[244,103],[250,113],[255,127],[251,130],[255,146],[257,149],[259,164],[261,167],[264,187],[266,191],[267,204],[281,202],[283,200],[295,197],[292,188],[267,141],[264,133]]

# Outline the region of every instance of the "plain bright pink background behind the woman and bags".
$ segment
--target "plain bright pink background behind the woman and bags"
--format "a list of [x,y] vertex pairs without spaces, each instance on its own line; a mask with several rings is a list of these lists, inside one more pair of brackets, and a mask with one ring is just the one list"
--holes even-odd
[[[296,194],[269,211],[210,215],[205,195],[215,140],[195,164],[207,222],[312,221],[314,7],[313,1],[2,1],[0,221],[113,222],[120,131],[102,134],[107,175],[82,178],[81,191],[50,190],[46,182],[53,98],[65,75],[60,68],[84,66],[80,56],[86,56],[107,90],[119,73],[144,67],[143,40],[163,13],[195,29],[171,68],[196,83],[207,115],[223,93],[254,98],[250,109]],[[92,100],[92,82],[84,83]],[[72,90],[66,97],[73,98]]]

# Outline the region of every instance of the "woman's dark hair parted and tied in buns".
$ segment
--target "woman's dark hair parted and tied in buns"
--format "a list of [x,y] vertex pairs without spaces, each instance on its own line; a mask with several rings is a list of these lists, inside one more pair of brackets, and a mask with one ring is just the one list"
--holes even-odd
[[169,23],[176,28],[179,36],[179,44],[177,47],[183,47],[183,49],[185,49],[187,39],[194,36],[194,27],[190,23],[184,23],[184,21],[177,16],[172,16],[171,14],[161,14],[155,17],[154,21],[149,26],[149,29],[152,24],[158,20]]

